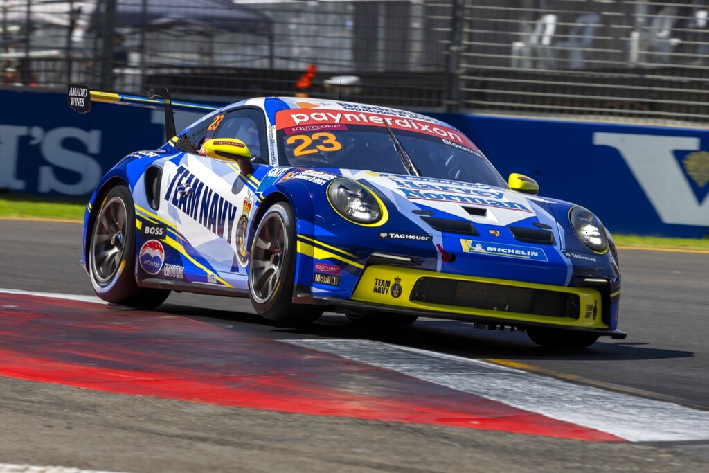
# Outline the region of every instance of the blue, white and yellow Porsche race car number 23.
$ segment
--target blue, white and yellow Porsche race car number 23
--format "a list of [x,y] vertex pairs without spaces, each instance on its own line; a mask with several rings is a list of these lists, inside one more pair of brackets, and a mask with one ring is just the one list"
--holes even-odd
[[613,240],[538,189],[428,116],[248,99],[118,162],[87,206],[82,261],[96,294],[127,306],[176,290],[249,297],[283,325],[336,311],[516,328],[547,347],[625,338]]

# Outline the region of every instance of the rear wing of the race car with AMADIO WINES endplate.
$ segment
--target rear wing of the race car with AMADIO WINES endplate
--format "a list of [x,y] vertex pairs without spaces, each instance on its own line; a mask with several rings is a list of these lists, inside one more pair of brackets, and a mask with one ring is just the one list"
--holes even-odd
[[189,102],[172,101],[166,88],[150,89],[147,97],[137,95],[117,94],[116,92],[101,92],[89,89],[86,84],[69,84],[67,104],[69,108],[78,113],[91,111],[91,102],[101,104],[130,105],[143,108],[152,108],[165,111],[165,140],[169,141],[175,135],[175,121],[172,111],[188,110],[203,111],[205,113],[218,110],[218,106],[191,104]]

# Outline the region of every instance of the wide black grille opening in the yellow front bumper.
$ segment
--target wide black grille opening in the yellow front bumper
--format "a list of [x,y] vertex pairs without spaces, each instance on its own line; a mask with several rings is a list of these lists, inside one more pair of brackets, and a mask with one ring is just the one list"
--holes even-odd
[[579,318],[579,296],[566,292],[436,277],[418,279],[411,300],[535,316]]

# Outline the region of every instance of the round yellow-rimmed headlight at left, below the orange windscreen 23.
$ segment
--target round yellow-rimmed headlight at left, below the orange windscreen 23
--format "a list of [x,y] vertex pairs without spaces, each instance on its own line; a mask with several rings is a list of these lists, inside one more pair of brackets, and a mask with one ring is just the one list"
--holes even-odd
[[328,199],[341,216],[355,223],[374,225],[381,220],[379,199],[350,179],[335,179],[328,186]]

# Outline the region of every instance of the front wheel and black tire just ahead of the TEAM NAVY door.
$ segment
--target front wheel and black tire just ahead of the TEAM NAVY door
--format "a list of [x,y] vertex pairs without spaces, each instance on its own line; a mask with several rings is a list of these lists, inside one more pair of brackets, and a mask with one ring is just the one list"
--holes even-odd
[[251,305],[263,318],[297,327],[323,315],[317,306],[293,304],[296,277],[296,218],[286,202],[268,208],[251,244],[249,293]]

